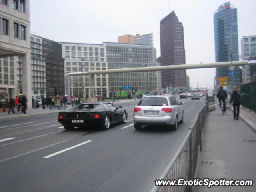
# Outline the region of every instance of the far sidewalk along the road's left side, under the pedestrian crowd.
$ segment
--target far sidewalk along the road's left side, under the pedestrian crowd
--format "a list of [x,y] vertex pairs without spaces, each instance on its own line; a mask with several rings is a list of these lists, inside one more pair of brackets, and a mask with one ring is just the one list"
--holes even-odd
[[[139,100],[136,99],[136,102],[138,102]],[[112,101],[109,101],[110,103],[112,103]],[[124,99],[124,100],[119,100],[119,101],[114,101],[114,104],[120,104],[120,103],[127,103],[127,102],[134,102],[134,99]],[[117,106],[118,107],[118,106]],[[69,105],[66,110],[71,109],[71,105]],[[0,113],[0,120],[4,120],[4,119],[11,119],[11,118],[20,118],[20,117],[27,117],[27,116],[34,116],[34,115],[42,115],[42,114],[51,114],[51,113],[58,113],[58,112],[64,112],[65,110],[61,109],[58,110],[56,109],[32,109],[32,110],[26,110],[26,114],[8,114],[7,112],[4,113]]]

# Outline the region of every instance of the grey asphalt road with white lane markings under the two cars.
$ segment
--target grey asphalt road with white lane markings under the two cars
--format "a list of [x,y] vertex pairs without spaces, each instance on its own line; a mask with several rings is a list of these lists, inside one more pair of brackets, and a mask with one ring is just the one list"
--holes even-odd
[[128,122],[107,131],[66,131],[58,113],[0,121],[0,192],[147,192],[154,186],[202,108],[184,101],[178,130],[136,131],[134,101],[122,105]]

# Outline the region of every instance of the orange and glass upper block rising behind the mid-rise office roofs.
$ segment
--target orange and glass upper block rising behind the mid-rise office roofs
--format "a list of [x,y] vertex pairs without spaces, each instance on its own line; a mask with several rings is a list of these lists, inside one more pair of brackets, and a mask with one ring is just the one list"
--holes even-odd
[[136,35],[119,36],[118,43],[129,43],[129,44],[153,46],[153,33],[144,34],[144,35],[136,34]]

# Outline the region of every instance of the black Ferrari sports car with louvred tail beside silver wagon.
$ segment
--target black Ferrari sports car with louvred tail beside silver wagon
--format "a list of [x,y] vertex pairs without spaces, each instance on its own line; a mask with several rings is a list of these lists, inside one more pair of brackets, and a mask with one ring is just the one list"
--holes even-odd
[[82,103],[66,112],[59,112],[58,122],[66,130],[87,125],[108,130],[112,124],[125,123],[127,117],[128,112],[122,106],[116,107],[108,102]]

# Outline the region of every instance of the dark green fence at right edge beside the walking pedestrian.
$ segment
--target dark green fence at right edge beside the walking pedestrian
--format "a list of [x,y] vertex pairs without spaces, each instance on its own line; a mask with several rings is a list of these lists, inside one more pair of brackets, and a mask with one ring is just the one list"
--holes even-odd
[[256,112],[256,82],[241,87],[242,106]]

